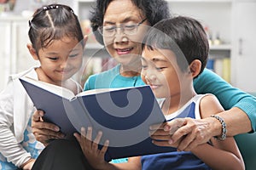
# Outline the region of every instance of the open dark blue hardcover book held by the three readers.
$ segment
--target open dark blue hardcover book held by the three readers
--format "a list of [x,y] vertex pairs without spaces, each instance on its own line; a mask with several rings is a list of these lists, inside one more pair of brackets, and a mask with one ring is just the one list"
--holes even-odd
[[28,77],[20,78],[20,82],[36,108],[45,111],[44,121],[55,123],[62,133],[73,134],[81,127],[92,127],[94,139],[102,131],[101,144],[106,139],[110,141],[106,161],[176,150],[156,146],[149,137],[150,125],[166,122],[149,86],[74,95],[67,88]]

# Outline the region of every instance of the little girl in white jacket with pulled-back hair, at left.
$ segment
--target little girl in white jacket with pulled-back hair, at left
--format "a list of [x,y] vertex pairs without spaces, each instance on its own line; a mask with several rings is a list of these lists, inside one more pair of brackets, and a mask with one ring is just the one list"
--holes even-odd
[[[0,95],[0,169],[31,169],[44,145],[39,143],[31,127],[35,111],[19,77],[32,77],[43,82],[81,91],[71,77],[82,64],[84,37],[73,9],[52,4],[38,8],[29,21],[27,48],[40,62],[28,71],[9,77]],[[40,96],[38,96],[40,97]]]

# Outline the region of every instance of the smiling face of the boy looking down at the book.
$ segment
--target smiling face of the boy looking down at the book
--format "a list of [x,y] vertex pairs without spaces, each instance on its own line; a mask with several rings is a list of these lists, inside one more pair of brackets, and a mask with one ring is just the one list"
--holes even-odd
[[143,50],[142,78],[150,85],[157,98],[169,98],[180,95],[185,73],[177,65],[175,54],[171,50]]

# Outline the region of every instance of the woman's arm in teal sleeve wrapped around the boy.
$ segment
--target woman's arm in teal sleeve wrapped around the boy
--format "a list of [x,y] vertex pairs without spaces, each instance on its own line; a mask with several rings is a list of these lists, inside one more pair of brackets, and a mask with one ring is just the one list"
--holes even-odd
[[[223,116],[228,126],[228,135],[254,131],[256,127],[256,99],[238,88],[224,82],[212,71],[205,69],[194,81],[198,94],[214,94],[224,110],[219,116]],[[218,122],[214,122],[218,127]],[[216,132],[219,134],[219,132]]]

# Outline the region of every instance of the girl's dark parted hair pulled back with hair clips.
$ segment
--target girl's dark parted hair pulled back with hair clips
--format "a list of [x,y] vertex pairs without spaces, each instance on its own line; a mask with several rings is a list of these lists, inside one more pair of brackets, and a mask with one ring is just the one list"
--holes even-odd
[[[28,36],[37,51],[47,48],[53,40],[76,38],[83,43],[83,32],[73,9],[63,4],[50,4],[38,8],[29,21]],[[84,46],[83,46],[84,47]]]

